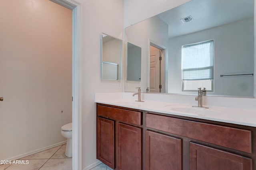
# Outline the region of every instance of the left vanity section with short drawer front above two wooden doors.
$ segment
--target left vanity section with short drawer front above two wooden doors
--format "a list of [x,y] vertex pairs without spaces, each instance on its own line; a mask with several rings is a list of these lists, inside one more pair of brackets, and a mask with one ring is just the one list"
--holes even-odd
[[97,104],[97,159],[117,170],[142,169],[142,112]]

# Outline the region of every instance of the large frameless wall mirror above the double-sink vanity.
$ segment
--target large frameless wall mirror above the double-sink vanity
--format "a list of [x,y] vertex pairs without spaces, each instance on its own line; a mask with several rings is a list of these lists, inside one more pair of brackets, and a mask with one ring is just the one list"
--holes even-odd
[[[191,0],[126,27],[125,41],[142,48],[141,82],[126,82],[127,92],[197,94],[206,87],[208,95],[254,97],[254,0]],[[152,46],[161,61],[156,91]]]

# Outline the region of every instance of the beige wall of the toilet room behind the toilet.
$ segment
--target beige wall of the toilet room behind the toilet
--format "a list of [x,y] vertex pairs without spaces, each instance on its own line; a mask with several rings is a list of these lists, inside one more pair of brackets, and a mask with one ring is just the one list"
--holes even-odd
[[72,121],[72,11],[48,0],[3,0],[0,28],[4,160],[66,140],[60,131]]

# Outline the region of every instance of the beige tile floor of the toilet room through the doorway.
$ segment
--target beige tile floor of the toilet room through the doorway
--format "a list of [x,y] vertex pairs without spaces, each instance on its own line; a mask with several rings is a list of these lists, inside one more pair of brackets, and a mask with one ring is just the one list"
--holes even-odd
[[[72,158],[65,156],[66,144],[24,158],[20,164],[3,164],[0,170],[72,170]],[[97,169],[98,170],[98,169]]]

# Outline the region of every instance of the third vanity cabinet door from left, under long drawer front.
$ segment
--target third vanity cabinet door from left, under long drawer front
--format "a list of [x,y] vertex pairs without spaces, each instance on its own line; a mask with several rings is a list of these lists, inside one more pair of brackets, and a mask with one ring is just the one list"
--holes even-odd
[[181,139],[146,131],[146,170],[181,170]]

